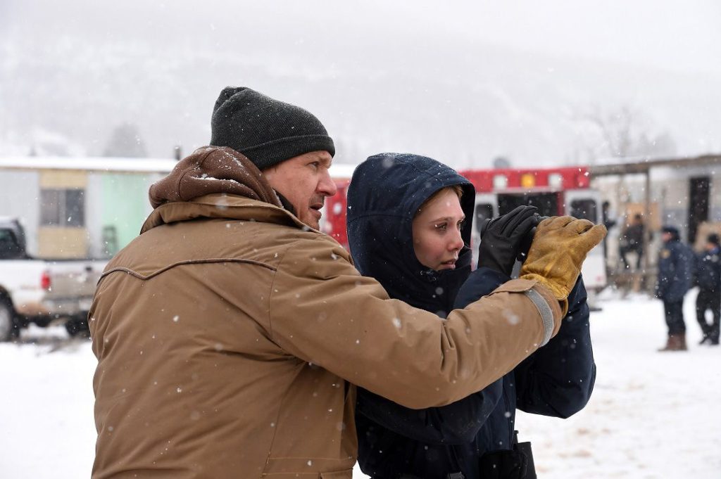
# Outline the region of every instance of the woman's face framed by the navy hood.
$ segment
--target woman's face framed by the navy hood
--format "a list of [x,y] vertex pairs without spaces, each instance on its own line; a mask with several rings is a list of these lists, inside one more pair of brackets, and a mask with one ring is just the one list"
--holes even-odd
[[420,264],[436,271],[455,269],[465,219],[458,194],[451,188],[423,205],[413,218],[413,249]]

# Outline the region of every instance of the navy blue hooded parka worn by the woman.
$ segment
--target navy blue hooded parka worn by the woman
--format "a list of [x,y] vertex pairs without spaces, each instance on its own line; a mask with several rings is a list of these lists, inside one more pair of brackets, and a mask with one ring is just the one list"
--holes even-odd
[[[355,170],[348,189],[348,242],[355,267],[376,278],[390,297],[441,317],[510,279],[487,268],[471,273],[467,247],[454,270],[435,272],[417,260],[415,213],[438,189],[456,184],[464,189],[461,237],[467,245],[474,188],[438,161],[400,153],[371,156]],[[479,478],[481,455],[511,449],[516,407],[558,417],[583,408],[596,377],[585,299],[579,280],[557,336],[513,372],[456,403],[413,410],[359,388],[355,419],[361,470],[379,479],[441,479],[456,472]]]

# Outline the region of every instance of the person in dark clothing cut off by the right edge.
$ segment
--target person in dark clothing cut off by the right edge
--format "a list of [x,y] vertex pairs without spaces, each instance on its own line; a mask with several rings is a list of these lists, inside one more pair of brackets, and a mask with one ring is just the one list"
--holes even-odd
[[[706,238],[704,251],[696,256],[696,282],[699,295],[696,296],[696,319],[699,321],[703,338],[699,344],[719,344],[719,323],[721,318],[721,248],[719,236],[715,233]],[[706,321],[706,311],[711,310],[713,323]]]

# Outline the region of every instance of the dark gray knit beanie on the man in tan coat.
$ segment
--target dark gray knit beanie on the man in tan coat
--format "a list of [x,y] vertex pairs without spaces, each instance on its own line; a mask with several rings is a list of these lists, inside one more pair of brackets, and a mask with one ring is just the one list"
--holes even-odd
[[260,170],[310,151],[335,155],[332,138],[310,112],[244,86],[221,91],[213,107],[211,146],[233,148]]

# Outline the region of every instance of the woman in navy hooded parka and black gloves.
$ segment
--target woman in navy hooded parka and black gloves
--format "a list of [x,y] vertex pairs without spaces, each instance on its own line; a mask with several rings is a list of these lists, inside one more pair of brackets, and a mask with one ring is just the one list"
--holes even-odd
[[[486,263],[482,258],[481,267],[471,274],[467,245],[473,208],[472,184],[448,166],[410,154],[372,156],[355,170],[348,189],[348,241],[355,265],[381,282],[391,297],[445,317],[459,300],[470,302],[509,279],[518,246],[536,224],[533,207],[519,207],[494,220],[483,237],[486,249],[481,254]],[[582,290],[583,285],[577,286],[569,298],[570,317],[581,319],[585,308],[587,319]],[[580,328],[565,324],[557,335],[560,341],[552,339],[518,366],[517,380],[510,372],[448,406],[415,411],[359,389],[356,427],[361,470],[374,479],[445,479],[461,474],[522,478],[519,473],[530,473],[527,457],[514,448],[516,401],[532,412],[568,416],[590,395],[595,366],[588,324],[575,323],[584,324]],[[565,363],[572,354],[569,340],[580,343],[573,346],[578,349],[573,355],[583,363],[582,372]],[[549,354],[539,358],[549,346]],[[575,354],[582,349],[578,356],[583,355],[583,361]],[[486,469],[505,473],[482,473]]]

